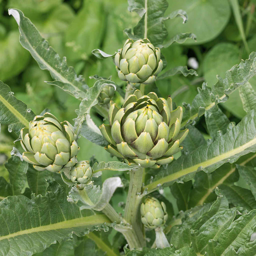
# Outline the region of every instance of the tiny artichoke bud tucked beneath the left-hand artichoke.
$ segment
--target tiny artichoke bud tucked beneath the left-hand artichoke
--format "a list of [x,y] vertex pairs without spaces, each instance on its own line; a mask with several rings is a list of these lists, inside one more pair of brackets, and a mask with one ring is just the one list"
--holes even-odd
[[89,161],[80,161],[70,171],[71,181],[88,185],[91,183],[93,169],[89,165]]

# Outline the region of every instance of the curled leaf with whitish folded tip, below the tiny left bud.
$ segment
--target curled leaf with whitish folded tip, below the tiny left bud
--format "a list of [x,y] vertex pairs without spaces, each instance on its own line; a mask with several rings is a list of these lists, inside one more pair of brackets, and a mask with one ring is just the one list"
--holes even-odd
[[100,186],[87,185],[83,190],[72,187],[68,201],[79,205],[80,209],[95,209],[101,211],[109,203],[115,190],[123,187],[120,177],[106,179]]

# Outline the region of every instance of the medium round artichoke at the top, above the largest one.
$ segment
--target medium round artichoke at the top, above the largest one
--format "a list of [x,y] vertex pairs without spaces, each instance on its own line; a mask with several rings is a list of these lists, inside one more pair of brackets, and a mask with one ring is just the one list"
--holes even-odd
[[118,77],[130,83],[152,84],[163,68],[160,49],[148,39],[128,39],[116,53],[114,62]]

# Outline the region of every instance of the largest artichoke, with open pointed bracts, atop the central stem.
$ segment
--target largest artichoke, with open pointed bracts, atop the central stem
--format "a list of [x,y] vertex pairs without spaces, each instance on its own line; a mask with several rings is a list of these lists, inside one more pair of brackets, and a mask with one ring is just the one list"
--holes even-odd
[[182,150],[180,143],[188,133],[188,129],[180,131],[182,115],[180,106],[172,111],[170,97],[158,98],[155,93],[142,96],[136,90],[121,109],[111,102],[110,125],[100,126],[103,137],[110,143],[105,150],[130,165],[159,168]]

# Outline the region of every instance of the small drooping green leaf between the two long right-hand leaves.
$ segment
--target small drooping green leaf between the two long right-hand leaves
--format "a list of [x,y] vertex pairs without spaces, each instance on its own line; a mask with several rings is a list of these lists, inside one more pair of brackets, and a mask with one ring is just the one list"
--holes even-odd
[[202,133],[195,126],[189,125],[188,131],[187,137],[182,142],[182,153],[192,152],[205,143]]

